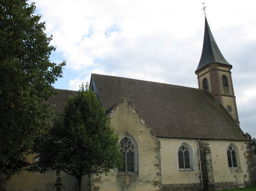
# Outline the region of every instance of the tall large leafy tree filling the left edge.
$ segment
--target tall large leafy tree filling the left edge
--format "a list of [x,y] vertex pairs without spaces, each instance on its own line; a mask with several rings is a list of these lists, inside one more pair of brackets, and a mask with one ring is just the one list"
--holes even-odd
[[55,95],[65,65],[49,61],[52,36],[34,11],[26,0],[0,1],[0,170],[7,179],[27,166],[24,155],[50,127],[53,109],[43,101]]

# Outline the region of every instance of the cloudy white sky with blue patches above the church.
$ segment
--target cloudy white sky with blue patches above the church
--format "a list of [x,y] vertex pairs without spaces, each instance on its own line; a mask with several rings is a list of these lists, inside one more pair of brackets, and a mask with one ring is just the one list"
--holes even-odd
[[[29,1],[31,2],[31,1]],[[92,73],[198,88],[204,12],[231,76],[240,127],[256,137],[255,0],[33,0],[53,35],[58,89],[78,90]]]

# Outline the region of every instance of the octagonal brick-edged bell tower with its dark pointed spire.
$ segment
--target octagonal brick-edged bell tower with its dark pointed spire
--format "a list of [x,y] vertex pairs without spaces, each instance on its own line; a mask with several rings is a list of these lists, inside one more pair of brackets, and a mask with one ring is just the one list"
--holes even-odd
[[230,69],[232,65],[223,57],[205,17],[203,50],[195,71],[199,89],[208,91],[221,104],[239,126],[236,97]]

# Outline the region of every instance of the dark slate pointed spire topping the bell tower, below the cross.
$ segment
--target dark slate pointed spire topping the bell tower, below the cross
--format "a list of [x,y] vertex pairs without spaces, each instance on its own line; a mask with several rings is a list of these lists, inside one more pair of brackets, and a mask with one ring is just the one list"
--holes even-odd
[[220,49],[218,48],[213,38],[213,35],[211,34],[211,30],[206,19],[205,27],[204,27],[203,50],[202,50],[201,59],[196,71],[210,63],[220,63],[220,64],[231,65],[223,57]]

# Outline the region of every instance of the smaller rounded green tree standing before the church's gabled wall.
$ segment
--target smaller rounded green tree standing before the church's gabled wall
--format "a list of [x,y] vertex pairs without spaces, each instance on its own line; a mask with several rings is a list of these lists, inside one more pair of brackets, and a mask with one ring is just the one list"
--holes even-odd
[[64,112],[55,117],[53,128],[36,140],[33,152],[39,161],[28,171],[64,171],[78,179],[80,191],[83,175],[121,168],[118,137],[109,123],[94,92],[82,85],[78,94],[69,97]]

